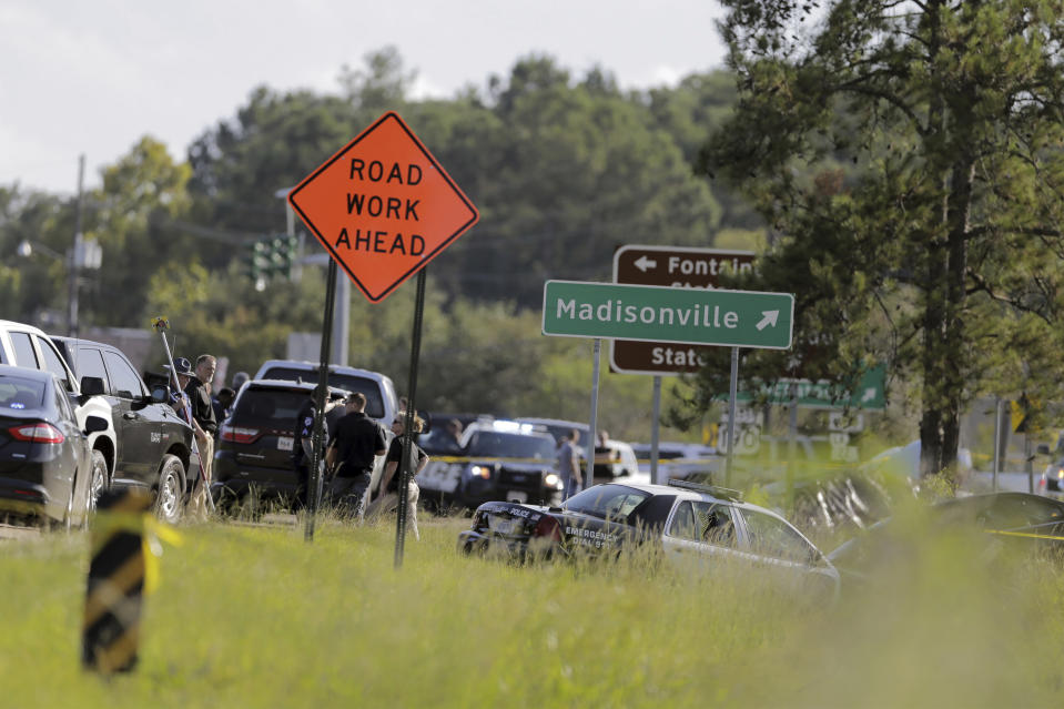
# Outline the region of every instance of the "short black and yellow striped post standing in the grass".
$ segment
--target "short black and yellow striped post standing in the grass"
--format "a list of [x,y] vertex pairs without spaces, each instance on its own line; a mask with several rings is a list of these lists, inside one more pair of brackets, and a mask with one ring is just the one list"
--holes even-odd
[[151,497],[104,493],[92,521],[92,560],[82,625],[82,664],[104,675],[136,665],[144,591],[144,517]]

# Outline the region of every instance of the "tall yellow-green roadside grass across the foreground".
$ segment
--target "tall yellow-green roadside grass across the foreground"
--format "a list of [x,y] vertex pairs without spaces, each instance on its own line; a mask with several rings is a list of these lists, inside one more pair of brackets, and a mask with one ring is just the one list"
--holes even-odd
[[[649,553],[456,554],[462,517],[201,524],[165,547],[140,664],[81,670],[88,537],[0,544],[6,707],[999,707],[1064,699],[1064,574],[919,515],[835,604],[763,573]],[[995,550],[996,551],[996,550]]]

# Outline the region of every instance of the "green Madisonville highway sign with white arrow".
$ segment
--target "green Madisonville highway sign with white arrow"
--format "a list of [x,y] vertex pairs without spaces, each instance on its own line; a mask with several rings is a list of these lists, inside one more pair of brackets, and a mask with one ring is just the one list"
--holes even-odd
[[793,321],[790,293],[580,281],[544,284],[545,335],[787,350]]

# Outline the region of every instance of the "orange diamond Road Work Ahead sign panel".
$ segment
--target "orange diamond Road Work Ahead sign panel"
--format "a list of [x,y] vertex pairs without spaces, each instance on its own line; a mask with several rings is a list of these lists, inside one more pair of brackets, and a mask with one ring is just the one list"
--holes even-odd
[[307,175],[288,203],[374,303],[480,219],[392,111]]

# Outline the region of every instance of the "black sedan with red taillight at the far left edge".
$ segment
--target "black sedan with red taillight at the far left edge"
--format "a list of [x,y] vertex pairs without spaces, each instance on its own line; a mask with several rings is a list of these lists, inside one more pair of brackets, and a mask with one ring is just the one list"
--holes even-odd
[[88,435],[50,372],[0,365],[0,510],[8,516],[83,524],[94,504]]

